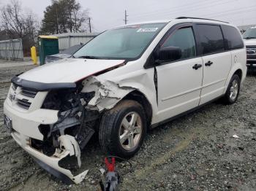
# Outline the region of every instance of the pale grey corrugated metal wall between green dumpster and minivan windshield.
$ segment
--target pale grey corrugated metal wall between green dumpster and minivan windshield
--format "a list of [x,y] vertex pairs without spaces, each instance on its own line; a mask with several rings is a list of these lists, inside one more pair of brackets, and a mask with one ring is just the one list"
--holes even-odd
[[96,33],[66,33],[66,34],[53,34],[53,36],[58,36],[59,39],[59,51],[66,50],[77,44],[86,44],[95,36]]

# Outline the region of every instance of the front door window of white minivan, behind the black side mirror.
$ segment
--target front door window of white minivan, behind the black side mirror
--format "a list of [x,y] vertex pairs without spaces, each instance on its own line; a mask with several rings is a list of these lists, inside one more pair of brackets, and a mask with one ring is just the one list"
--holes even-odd
[[195,39],[192,28],[180,28],[170,34],[162,47],[180,47],[181,59],[195,57]]

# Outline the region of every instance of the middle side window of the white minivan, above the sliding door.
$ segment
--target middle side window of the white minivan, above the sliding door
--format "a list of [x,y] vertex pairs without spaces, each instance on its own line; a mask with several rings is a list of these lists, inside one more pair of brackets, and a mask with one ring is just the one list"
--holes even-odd
[[224,51],[224,40],[220,26],[197,25],[199,46],[203,55]]

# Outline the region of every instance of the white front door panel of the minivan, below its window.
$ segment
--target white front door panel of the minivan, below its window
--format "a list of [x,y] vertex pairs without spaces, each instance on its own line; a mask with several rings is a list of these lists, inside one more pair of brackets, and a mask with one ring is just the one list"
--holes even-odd
[[[192,58],[156,67],[161,120],[198,106],[203,68],[195,70],[192,68],[195,64],[203,65],[202,59]],[[177,78],[177,74],[181,76]]]

